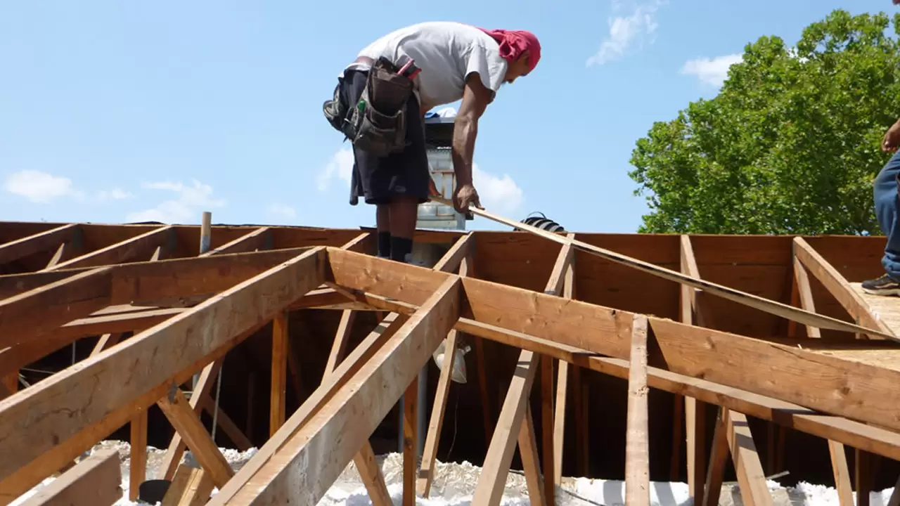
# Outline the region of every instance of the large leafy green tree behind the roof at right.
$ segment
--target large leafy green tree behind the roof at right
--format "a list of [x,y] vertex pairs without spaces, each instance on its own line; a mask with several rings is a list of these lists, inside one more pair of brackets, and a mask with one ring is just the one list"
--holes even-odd
[[637,141],[629,176],[651,206],[639,231],[880,233],[871,184],[900,117],[897,34],[900,14],[837,10],[796,48],[748,44],[715,98]]

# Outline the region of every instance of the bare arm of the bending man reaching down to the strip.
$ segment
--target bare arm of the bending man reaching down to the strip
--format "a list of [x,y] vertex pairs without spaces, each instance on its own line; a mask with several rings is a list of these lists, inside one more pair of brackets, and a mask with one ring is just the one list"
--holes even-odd
[[457,190],[454,194],[456,210],[464,212],[469,203],[481,207],[478,194],[472,184],[472,161],[475,152],[475,138],[478,136],[478,121],[494,93],[482,83],[477,73],[469,74],[463,92],[463,104],[456,113],[453,129],[453,167],[456,174]]

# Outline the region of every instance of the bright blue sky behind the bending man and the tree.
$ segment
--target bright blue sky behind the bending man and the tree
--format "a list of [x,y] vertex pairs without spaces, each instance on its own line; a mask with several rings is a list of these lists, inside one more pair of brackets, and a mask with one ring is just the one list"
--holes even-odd
[[447,20],[526,28],[543,45],[536,71],[482,118],[482,203],[632,232],[647,211],[627,176],[635,140],[716,95],[747,42],[794,43],[835,8],[897,11],[890,0],[327,5],[3,3],[0,220],[197,223],[211,211],[214,222],[372,225],[372,207],[347,203],[352,158],[321,104],[370,41]]

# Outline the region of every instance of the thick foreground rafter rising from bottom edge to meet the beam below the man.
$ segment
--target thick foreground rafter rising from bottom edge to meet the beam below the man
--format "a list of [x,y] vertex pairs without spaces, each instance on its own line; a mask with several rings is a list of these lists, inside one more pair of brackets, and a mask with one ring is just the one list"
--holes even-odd
[[[266,462],[246,484],[237,482],[241,487],[233,496],[234,502],[316,504],[453,327],[459,315],[459,288],[456,276],[440,285],[401,330],[323,406],[320,414],[284,443],[277,459]],[[365,415],[360,416],[361,413]],[[293,432],[289,424],[283,430]],[[338,437],[341,442],[336,445]],[[277,440],[270,443],[278,445]],[[245,465],[241,471],[246,468]],[[229,487],[212,498],[210,506],[229,500],[230,494],[222,493],[226,488]]]

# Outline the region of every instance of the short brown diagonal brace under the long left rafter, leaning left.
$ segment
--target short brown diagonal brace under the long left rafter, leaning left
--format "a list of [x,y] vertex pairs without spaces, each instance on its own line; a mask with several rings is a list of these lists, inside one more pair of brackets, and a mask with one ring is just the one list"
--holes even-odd
[[202,465],[203,470],[210,474],[212,483],[218,487],[228,483],[234,471],[212,440],[210,433],[203,427],[200,417],[184,398],[181,389],[175,386],[169,395],[157,401],[157,406],[166,414],[169,423],[175,427],[187,447],[191,448],[191,453]]

